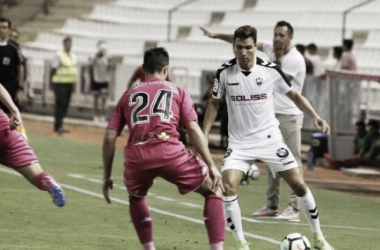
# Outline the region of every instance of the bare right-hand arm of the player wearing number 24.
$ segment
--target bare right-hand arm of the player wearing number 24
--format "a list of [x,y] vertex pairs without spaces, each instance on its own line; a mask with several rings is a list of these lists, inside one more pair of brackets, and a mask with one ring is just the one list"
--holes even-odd
[[189,140],[197,152],[200,154],[204,162],[210,169],[210,177],[213,181],[212,189],[216,191],[219,187],[224,191],[222,185],[222,175],[220,174],[218,168],[215,166],[214,161],[212,160],[210,150],[207,146],[207,140],[204,134],[202,133],[201,128],[198,123],[195,121],[190,121],[186,124],[186,131],[189,135]]

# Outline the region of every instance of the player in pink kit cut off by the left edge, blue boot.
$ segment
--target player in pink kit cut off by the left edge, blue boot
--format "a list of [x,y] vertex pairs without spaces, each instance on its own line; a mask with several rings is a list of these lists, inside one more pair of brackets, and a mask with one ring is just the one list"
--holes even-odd
[[66,197],[62,188],[50,173],[42,170],[33,150],[15,130],[21,124],[20,111],[1,84],[0,101],[10,112],[8,118],[0,109],[0,164],[16,170],[40,190],[48,191],[54,204],[63,207]]

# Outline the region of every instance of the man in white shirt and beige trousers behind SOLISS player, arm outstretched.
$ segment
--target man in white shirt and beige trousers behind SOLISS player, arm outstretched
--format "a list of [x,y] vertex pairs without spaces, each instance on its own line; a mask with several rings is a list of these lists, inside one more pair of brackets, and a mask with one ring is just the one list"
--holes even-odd
[[[201,27],[204,34],[211,38],[219,38],[227,42],[233,42],[233,36],[229,34],[215,34]],[[269,60],[276,63],[294,89],[302,93],[306,76],[306,64],[301,53],[291,45],[293,39],[293,27],[286,21],[280,21],[274,28],[272,43],[257,43],[257,49],[266,53]],[[280,130],[285,143],[292,152],[298,166],[302,171],[301,160],[301,128],[303,113],[285,95],[275,93],[274,111],[280,122]],[[253,217],[274,217],[290,221],[299,221],[299,205],[294,192],[290,193],[288,207],[278,215],[280,201],[281,178],[268,175],[267,204],[262,209],[252,214]]]

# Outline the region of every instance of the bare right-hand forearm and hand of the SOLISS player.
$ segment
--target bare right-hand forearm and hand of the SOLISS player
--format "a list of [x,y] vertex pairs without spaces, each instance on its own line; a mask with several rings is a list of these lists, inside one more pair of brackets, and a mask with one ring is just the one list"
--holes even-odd
[[317,114],[313,106],[311,106],[311,103],[303,95],[298,93],[295,89],[291,89],[288,93],[286,93],[286,95],[302,112],[306,113],[314,120],[314,125],[316,128],[321,129],[322,133],[330,133],[330,126]]

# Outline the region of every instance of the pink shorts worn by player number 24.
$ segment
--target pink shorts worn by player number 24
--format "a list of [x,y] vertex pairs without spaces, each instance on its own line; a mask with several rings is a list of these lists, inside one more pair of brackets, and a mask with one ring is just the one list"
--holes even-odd
[[137,197],[145,197],[156,177],[161,177],[178,187],[181,194],[197,190],[205,181],[209,169],[201,159],[189,154],[189,159],[180,164],[141,170],[141,168],[125,168],[124,183],[127,189]]

